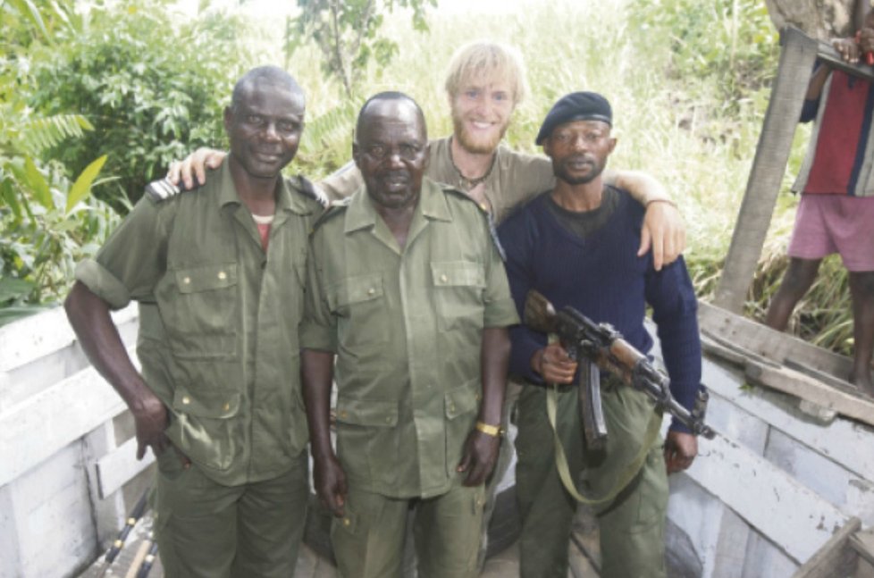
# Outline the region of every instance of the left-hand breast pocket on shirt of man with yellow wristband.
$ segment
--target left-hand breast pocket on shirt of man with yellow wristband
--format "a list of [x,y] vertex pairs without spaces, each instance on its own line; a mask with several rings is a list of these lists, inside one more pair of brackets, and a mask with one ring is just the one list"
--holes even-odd
[[389,340],[382,273],[347,277],[327,290],[328,306],[337,317],[340,347],[372,348]]

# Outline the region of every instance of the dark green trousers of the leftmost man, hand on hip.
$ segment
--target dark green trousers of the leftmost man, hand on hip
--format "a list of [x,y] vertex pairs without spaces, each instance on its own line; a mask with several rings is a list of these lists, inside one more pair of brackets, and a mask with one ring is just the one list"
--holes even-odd
[[277,478],[223,486],[165,451],[153,498],[167,578],[290,578],[307,520],[308,470],[303,451]]

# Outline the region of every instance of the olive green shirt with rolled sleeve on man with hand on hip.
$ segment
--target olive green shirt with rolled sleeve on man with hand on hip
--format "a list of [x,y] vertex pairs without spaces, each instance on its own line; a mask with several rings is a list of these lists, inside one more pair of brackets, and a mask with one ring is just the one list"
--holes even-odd
[[280,180],[265,252],[229,165],[195,195],[144,196],[76,278],[113,308],[139,301],[138,356],[169,408],[167,435],[238,485],[284,473],[306,448],[298,324],[322,209]]

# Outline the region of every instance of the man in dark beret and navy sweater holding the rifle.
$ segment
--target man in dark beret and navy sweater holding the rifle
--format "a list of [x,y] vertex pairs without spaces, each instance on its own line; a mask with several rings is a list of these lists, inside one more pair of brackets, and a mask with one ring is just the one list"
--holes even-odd
[[[556,309],[573,306],[610,323],[643,353],[652,347],[643,326],[651,306],[671,393],[691,410],[701,381],[692,282],[682,257],[656,271],[651,255],[637,255],[643,208],[601,176],[616,147],[611,128],[609,102],[592,92],[564,96],[546,115],[536,142],[552,161],[556,185],[500,226],[510,289],[520,314],[536,289]],[[510,371],[526,381],[516,440],[521,575],[567,576],[567,543],[582,501],[598,515],[602,576],[665,576],[667,473],[692,464],[697,440],[675,422],[662,449],[660,412],[641,391],[603,373],[608,441],[599,452],[586,448],[572,385],[584,368],[525,326],[513,328],[511,339]]]

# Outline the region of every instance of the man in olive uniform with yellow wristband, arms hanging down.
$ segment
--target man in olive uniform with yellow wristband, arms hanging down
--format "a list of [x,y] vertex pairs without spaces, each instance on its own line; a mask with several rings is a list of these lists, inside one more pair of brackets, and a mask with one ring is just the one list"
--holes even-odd
[[353,156],[365,185],[316,224],[307,262],[315,490],[336,516],[341,576],[400,576],[410,507],[419,574],[473,576],[518,321],[507,278],[483,210],[424,178],[427,133],[411,98],[368,100]]

